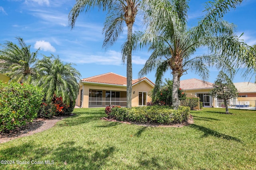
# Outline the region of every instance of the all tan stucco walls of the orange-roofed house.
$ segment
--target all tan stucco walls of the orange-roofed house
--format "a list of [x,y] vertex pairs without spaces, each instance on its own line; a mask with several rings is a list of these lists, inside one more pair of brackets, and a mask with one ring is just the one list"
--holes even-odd
[[[147,82],[142,81],[138,84],[132,86],[132,107],[138,106],[139,104],[139,92],[147,92],[147,102],[151,101],[149,96],[149,92],[153,87],[150,86]],[[105,90],[113,90],[113,91],[120,91],[120,98],[126,98],[126,86],[105,86],[105,85],[97,85],[97,84],[82,84],[80,86],[80,90],[84,89],[83,94],[83,108],[89,107],[89,90],[103,90],[102,91],[102,101],[105,99]],[[80,90],[78,94],[78,98],[76,99],[76,105],[80,106]],[[134,92],[134,94],[133,94]],[[102,104],[104,107],[104,103]]]

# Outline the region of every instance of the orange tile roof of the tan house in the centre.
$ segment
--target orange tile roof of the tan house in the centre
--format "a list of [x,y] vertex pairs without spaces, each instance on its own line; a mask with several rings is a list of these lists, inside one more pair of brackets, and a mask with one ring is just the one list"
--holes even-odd
[[[151,82],[148,78],[143,77],[141,79],[135,79],[132,80],[132,84],[137,84],[138,82],[141,82],[143,80],[147,80],[149,84],[152,84],[154,86],[154,83]],[[119,74],[115,74],[113,72],[108,72],[105,74],[100,74],[93,77],[83,78],[82,82],[92,82],[92,83],[100,83],[100,84],[113,84],[113,85],[123,85],[126,86],[127,79],[124,76],[121,76]]]

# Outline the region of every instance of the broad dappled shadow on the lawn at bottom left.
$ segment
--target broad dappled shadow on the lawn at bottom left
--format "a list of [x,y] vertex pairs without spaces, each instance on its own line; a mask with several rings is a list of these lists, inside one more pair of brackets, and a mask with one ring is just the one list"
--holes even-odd
[[[75,141],[60,143],[55,148],[40,147],[33,143],[24,143],[16,147],[0,150],[0,156],[5,160],[30,162],[31,160],[43,162],[44,160],[50,160],[50,162],[54,160],[54,165],[29,164],[23,166],[23,168],[26,167],[28,169],[100,169],[106,162],[112,160],[111,155],[115,150],[116,149],[113,146],[77,146]],[[8,166],[4,168],[8,169]],[[1,165],[0,169],[2,169]],[[20,169],[22,168],[20,167]]]

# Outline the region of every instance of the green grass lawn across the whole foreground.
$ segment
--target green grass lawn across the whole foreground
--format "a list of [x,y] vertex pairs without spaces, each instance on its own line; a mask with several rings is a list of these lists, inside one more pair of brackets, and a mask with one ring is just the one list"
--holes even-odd
[[[0,169],[256,169],[256,111],[204,108],[186,127],[143,127],[100,120],[104,109],[77,115],[29,137],[0,144]],[[54,160],[54,164],[31,161]]]

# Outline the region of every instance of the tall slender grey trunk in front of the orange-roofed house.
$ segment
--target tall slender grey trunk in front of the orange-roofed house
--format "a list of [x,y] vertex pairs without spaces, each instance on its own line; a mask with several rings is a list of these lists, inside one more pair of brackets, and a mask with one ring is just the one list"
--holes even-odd
[[[127,31],[127,37],[130,38],[132,34],[132,25],[133,23],[129,23],[127,25],[128,31]],[[132,108],[132,49],[128,51],[128,54],[126,56],[126,75],[127,75],[127,90],[126,90],[126,98],[127,103],[126,107],[131,109]]]

